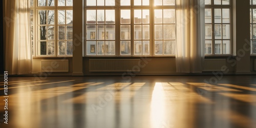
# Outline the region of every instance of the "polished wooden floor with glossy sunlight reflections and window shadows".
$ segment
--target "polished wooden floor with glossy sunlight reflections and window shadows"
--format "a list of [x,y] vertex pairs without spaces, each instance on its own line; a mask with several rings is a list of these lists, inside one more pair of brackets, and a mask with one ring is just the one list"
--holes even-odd
[[256,127],[256,76],[129,78],[9,77],[0,127]]

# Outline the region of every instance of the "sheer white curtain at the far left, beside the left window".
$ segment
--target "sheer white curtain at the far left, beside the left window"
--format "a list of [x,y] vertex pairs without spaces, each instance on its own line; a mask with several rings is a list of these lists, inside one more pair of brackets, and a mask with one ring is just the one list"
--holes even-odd
[[9,74],[32,72],[30,1],[6,1],[5,70]]

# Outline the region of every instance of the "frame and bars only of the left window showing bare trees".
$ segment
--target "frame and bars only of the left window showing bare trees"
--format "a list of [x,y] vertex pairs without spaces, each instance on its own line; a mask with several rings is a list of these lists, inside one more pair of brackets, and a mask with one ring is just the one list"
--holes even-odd
[[[54,0],[54,6],[38,6],[38,0],[30,0],[31,2],[33,1],[33,6],[30,6],[30,10],[33,10],[33,36],[34,36],[34,45],[31,47],[34,50],[34,54],[33,54],[33,58],[46,58],[46,57],[73,57],[73,53],[72,55],[67,55],[67,43],[66,43],[66,47],[65,47],[65,53],[66,55],[58,55],[58,10],[73,10],[73,5],[72,6],[66,6],[67,4],[67,0],[65,0],[65,6],[58,6],[58,0]],[[39,10],[54,10],[54,55],[48,55],[48,46],[46,54],[47,55],[40,55],[40,48],[39,48],[39,42],[40,39],[38,38],[38,26],[41,26],[38,23],[38,11]],[[66,11],[65,11],[66,12]],[[65,22],[66,22],[67,18],[65,17]],[[44,26],[44,25],[43,25]],[[46,24],[46,26],[48,26],[48,24]],[[65,24],[65,26],[67,26]],[[73,27],[73,24],[71,25]],[[72,30],[73,31],[73,30]],[[66,34],[66,33],[65,33]],[[65,39],[67,41],[67,39]],[[73,34],[72,34],[72,39],[70,39],[73,41]],[[50,40],[51,41],[51,40]],[[47,45],[48,45],[48,41]]]

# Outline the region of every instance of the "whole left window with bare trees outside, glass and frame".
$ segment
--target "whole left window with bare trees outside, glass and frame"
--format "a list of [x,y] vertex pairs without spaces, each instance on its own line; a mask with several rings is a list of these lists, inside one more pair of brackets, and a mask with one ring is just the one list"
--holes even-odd
[[73,0],[31,0],[33,56],[73,54]]

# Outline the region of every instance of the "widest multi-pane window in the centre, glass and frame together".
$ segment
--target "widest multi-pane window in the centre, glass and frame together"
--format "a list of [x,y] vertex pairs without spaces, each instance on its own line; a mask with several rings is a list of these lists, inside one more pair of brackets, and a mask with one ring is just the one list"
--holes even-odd
[[86,56],[172,56],[175,0],[87,0]]

